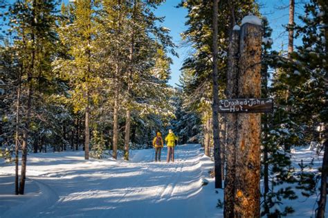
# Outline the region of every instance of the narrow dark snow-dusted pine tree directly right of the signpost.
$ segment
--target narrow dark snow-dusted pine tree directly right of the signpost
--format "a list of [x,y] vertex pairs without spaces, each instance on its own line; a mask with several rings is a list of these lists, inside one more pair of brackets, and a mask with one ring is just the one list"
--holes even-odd
[[[269,71],[270,67],[274,67],[275,64],[273,62],[271,53],[274,54],[275,51],[271,51],[271,45],[273,44],[271,37],[272,29],[268,26],[268,21],[266,18],[262,19],[264,26],[264,38],[262,42],[262,56],[264,60],[262,61],[262,98],[269,98],[270,96],[277,95],[274,91],[275,89],[271,89],[268,85],[268,81],[271,79],[271,75]],[[275,87],[275,84],[273,84]],[[277,95],[279,96],[279,95]],[[279,98],[275,98],[275,100],[279,100]],[[282,100],[284,102],[284,100]],[[276,109],[279,110],[278,106]],[[288,134],[286,129],[283,129],[284,125],[280,125],[279,122],[280,113],[276,112],[275,115],[270,113],[266,113],[262,116],[263,128],[262,128],[262,145],[263,147],[263,176],[264,176],[264,211],[262,215],[286,215],[289,212],[293,212],[293,208],[286,207],[284,211],[278,211],[275,209],[271,211],[271,209],[276,205],[280,204],[280,201],[277,199],[289,198],[296,199],[295,192],[291,190],[290,187],[286,189],[275,190],[275,186],[281,184],[282,182],[292,182],[293,181],[293,168],[290,166],[290,155],[289,153],[284,152],[282,145],[286,145],[286,140],[282,139],[277,140],[282,136],[282,138],[288,139]],[[279,118],[275,118],[275,116]],[[277,120],[278,119],[278,120]],[[279,143],[280,142],[280,143]],[[286,170],[288,169],[288,170]],[[279,178],[275,178],[275,175],[280,175]],[[271,180],[270,180],[271,178]],[[271,188],[270,188],[271,187]],[[273,201],[273,199],[275,199]]]

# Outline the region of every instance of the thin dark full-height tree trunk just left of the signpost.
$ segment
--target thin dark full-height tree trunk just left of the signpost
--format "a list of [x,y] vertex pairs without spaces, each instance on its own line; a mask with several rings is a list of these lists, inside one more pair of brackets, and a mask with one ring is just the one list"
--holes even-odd
[[219,138],[219,75],[217,73],[217,16],[219,0],[214,0],[213,6],[213,102],[212,102],[212,118],[213,118],[213,144],[214,144],[214,161],[215,161],[215,188],[222,188],[221,176],[221,147]]

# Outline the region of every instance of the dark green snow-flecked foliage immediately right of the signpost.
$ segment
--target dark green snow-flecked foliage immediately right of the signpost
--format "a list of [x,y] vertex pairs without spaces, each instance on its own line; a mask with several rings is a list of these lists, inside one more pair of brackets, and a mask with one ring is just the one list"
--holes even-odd
[[[266,113],[262,115],[262,165],[267,165],[267,175],[262,167],[262,176],[268,176],[268,185],[271,187],[267,193],[262,195],[265,197],[263,203],[262,216],[281,217],[285,216],[291,210],[280,211],[276,208],[282,205],[282,199],[297,199],[298,196],[290,186],[286,188],[278,188],[283,183],[295,183],[295,169],[291,166],[290,147],[298,143],[298,125],[291,120],[291,110],[286,107],[286,87],[280,87],[280,73],[284,73],[279,69],[273,77],[273,83],[270,85],[272,69],[276,66],[276,61],[271,55],[275,55],[275,51],[271,51],[273,44],[271,37],[272,29],[268,24],[266,17],[262,18],[264,28],[264,40],[262,42],[262,98],[274,96],[273,114]],[[279,87],[279,88],[277,88]],[[271,97],[272,98],[272,97]],[[265,190],[264,190],[265,192]],[[289,208],[289,207],[286,207]]]

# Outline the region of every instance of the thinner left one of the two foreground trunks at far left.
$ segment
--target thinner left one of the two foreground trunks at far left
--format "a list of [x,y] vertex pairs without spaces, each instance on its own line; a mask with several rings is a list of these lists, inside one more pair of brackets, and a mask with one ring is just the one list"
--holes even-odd
[[21,72],[18,75],[18,89],[17,89],[17,106],[16,106],[16,133],[15,133],[15,194],[19,194],[19,175],[18,175],[18,164],[19,164],[19,107],[21,101]]

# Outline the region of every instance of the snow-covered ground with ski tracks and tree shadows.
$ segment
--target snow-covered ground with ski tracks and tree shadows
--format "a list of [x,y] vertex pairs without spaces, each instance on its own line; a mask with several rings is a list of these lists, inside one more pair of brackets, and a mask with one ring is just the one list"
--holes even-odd
[[[298,149],[293,162],[311,156]],[[12,194],[14,165],[0,163],[0,217],[223,217],[216,207],[223,190],[215,190],[213,163],[200,145],[178,146],[174,163],[165,158],[166,149],[157,163],[154,149],[131,151],[129,162],[85,161],[83,152],[30,154],[24,196]],[[286,203],[296,210],[289,217],[311,217],[316,196]]]

